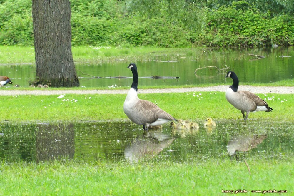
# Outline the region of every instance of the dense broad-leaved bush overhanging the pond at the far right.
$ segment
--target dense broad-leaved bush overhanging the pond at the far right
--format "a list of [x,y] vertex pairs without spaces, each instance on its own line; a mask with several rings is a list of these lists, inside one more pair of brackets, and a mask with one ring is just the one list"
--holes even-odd
[[294,21],[286,14],[270,17],[245,1],[211,10],[208,25],[196,35],[196,43],[206,46],[292,45]]

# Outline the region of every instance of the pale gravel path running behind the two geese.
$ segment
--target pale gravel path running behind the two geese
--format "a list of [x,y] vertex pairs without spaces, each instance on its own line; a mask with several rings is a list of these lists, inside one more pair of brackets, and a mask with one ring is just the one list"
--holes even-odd
[[[138,93],[185,93],[198,91],[225,92],[228,85],[193,87],[193,88],[166,88],[166,89],[139,89]],[[294,94],[294,86],[248,86],[240,85],[239,90],[252,93],[279,93]],[[127,94],[128,90],[0,90],[0,95],[61,95],[61,94]]]

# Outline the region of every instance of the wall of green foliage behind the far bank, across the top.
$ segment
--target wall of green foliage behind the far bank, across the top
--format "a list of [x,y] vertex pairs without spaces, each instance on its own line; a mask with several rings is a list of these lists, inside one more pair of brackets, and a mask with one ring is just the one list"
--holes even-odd
[[[73,0],[72,44],[293,45],[293,10],[290,0]],[[0,44],[33,46],[31,15],[31,0],[0,1]]]

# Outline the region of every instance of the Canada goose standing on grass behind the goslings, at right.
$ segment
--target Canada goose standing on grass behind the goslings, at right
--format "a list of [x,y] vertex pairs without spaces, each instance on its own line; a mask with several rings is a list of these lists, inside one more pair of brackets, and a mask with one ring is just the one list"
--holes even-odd
[[249,91],[238,91],[239,80],[237,75],[233,71],[229,71],[226,77],[230,77],[233,79],[233,85],[230,86],[226,91],[225,98],[235,108],[241,110],[245,122],[250,112],[272,112],[273,109],[268,107],[268,104],[254,93],[251,93]]

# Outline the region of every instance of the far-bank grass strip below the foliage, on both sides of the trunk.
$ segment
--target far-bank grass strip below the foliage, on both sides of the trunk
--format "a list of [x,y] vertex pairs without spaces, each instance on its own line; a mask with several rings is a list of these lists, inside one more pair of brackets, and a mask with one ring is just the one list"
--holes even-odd
[[[72,47],[73,58],[76,63],[101,63],[103,61],[148,61],[153,55],[175,55],[195,53],[195,48],[156,48],[156,47]],[[0,63],[35,63],[33,46],[0,46]]]

